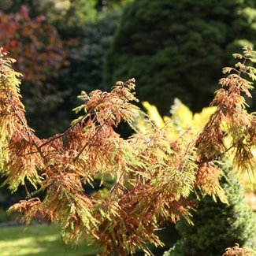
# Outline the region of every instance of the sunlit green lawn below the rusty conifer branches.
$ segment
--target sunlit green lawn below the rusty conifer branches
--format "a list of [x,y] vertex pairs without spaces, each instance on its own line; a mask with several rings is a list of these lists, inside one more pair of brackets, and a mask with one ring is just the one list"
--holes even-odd
[[92,256],[99,250],[85,243],[72,248],[62,242],[58,228],[35,224],[0,228],[0,252],[1,256]]

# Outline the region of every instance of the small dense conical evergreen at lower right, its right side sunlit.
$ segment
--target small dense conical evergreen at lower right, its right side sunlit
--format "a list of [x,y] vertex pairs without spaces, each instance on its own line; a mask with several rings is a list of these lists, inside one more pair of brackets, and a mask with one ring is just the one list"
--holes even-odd
[[[227,172],[227,169],[225,170]],[[194,226],[180,221],[176,228],[181,239],[164,256],[216,256],[239,243],[256,249],[256,213],[247,206],[236,173],[222,180],[229,205],[202,198],[193,214]]]

